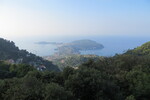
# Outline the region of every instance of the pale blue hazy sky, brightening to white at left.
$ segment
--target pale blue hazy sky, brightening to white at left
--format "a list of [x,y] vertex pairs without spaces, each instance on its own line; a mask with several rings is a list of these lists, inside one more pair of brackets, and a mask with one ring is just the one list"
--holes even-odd
[[150,0],[0,0],[0,37],[150,36]]

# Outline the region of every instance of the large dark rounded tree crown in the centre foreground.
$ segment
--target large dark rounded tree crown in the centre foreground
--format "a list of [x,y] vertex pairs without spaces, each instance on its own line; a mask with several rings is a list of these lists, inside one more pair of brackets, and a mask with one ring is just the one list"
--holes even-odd
[[[109,100],[117,98],[118,87],[93,68],[81,67],[65,82],[67,89],[80,100]],[[113,92],[116,91],[116,94]]]

